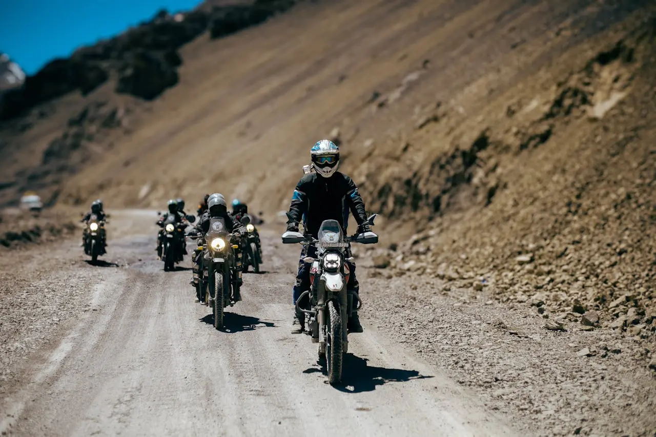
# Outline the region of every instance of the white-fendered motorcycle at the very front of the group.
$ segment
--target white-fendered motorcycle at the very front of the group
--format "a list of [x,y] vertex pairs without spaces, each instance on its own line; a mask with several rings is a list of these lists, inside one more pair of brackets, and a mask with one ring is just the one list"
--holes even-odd
[[[287,217],[292,220],[289,213]],[[376,217],[376,214],[371,215],[363,224],[373,226]],[[378,236],[373,232],[344,236],[337,220],[324,220],[317,236],[313,238],[308,234],[287,231],[282,240],[285,244],[302,243],[316,247],[316,258],[303,259],[312,263],[310,289],[301,293],[296,308],[297,312],[309,316],[308,327],[313,340],[318,339],[319,358],[326,360],[328,382],[335,385],[342,379],[342,354],[348,352],[346,323],[352,310],[358,310],[362,303],[359,298],[354,302],[354,295],[346,293],[350,270],[344,261],[354,260],[347,257],[348,247],[350,243],[378,243]]]

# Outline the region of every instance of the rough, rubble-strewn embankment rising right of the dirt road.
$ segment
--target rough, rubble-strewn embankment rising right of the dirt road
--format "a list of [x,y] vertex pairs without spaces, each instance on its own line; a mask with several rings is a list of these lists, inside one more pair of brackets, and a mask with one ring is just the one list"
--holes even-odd
[[[396,156],[380,159],[406,165],[367,173],[374,209],[420,230],[377,265],[532,305],[550,327],[555,314],[653,341],[656,20],[638,16],[613,36],[470,119],[454,121],[448,106],[420,115]],[[421,141],[450,150],[413,148]]]

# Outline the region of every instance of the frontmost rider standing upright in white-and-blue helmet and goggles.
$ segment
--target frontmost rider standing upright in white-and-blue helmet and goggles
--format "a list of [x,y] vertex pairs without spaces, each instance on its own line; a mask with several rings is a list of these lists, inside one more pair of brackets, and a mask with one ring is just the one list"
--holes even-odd
[[[294,195],[289,207],[291,219],[287,222],[287,230],[298,232],[298,222],[302,220],[305,231],[317,238],[319,227],[323,220],[337,220],[344,232],[346,232],[346,219],[348,211],[345,214],[345,207],[350,209],[351,213],[358,222],[358,233],[368,232],[368,225],[363,225],[367,220],[365,203],[362,200],[358,187],[353,180],[337,171],[339,164],[339,148],[330,140],[321,140],[314,144],[310,150],[312,157],[312,167],[316,173],[304,175],[298,182]],[[296,285],[293,288],[293,303],[296,304],[298,297],[303,291],[310,288],[310,267],[303,261],[304,257],[314,257],[316,247],[311,245],[304,246],[301,251],[300,260],[298,261],[298,274]],[[348,261],[346,261],[348,262]],[[354,294],[355,299],[359,295],[359,283],[356,279],[356,266],[353,262],[348,262],[350,276],[346,284],[347,293]],[[304,329],[304,314],[295,312],[295,325],[300,325],[298,332]],[[352,316],[348,320],[348,329],[350,332],[362,332],[357,310],[352,310]]]

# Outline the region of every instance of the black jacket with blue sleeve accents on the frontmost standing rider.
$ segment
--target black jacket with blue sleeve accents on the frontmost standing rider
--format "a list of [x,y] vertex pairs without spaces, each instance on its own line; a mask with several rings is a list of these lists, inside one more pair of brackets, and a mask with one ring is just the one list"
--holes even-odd
[[336,171],[325,178],[308,173],[298,181],[289,206],[295,222],[302,222],[309,234],[317,237],[323,220],[337,220],[346,233],[349,211],[362,224],[367,220],[365,203],[353,180]]

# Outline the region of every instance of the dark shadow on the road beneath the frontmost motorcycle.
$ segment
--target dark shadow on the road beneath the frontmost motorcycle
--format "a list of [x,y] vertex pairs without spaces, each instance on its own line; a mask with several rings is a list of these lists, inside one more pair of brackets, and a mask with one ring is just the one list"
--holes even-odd
[[[367,358],[359,358],[354,354],[344,355],[342,367],[342,383],[335,385],[340,392],[361,393],[376,390],[379,385],[387,383],[405,383],[413,379],[426,379],[432,376],[421,375],[416,370],[388,369],[367,365]],[[310,367],[303,373],[327,374],[325,359],[318,362],[320,367]]]

